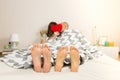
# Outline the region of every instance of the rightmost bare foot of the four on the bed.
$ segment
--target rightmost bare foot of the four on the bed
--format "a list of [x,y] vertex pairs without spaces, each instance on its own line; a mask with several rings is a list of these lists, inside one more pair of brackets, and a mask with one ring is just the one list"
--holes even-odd
[[80,64],[80,55],[78,49],[71,46],[70,47],[70,57],[71,57],[71,72],[78,72]]

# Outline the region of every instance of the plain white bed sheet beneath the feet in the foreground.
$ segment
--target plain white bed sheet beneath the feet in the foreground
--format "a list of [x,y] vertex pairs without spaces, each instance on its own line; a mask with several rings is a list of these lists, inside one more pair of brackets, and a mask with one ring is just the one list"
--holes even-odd
[[79,67],[79,72],[70,72],[64,67],[62,72],[36,73],[33,69],[13,69],[0,62],[0,80],[120,80],[120,62],[103,55],[89,60]]

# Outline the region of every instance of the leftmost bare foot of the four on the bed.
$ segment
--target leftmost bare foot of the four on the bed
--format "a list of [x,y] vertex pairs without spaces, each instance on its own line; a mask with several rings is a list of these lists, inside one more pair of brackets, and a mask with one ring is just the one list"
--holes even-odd
[[41,46],[40,44],[35,44],[31,49],[31,56],[33,60],[34,71],[41,72]]

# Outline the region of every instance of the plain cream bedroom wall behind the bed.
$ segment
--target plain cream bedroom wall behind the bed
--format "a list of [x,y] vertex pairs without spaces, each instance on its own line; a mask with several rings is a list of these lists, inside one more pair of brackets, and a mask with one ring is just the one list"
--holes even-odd
[[119,0],[0,0],[0,49],[12,33],[20,37],[19,48],[40,41],[39,31],[50,21],[67,21],[95,42],[107,36],[120,47]]

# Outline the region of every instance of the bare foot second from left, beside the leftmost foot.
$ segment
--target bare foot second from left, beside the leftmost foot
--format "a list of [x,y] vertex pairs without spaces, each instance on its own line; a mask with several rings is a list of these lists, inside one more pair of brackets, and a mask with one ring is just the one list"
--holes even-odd
[[43,46],[43,58],[44,58],[44,65],[43,65],[43,72],[47,73],[51,69],[51,50],[47,45]]

